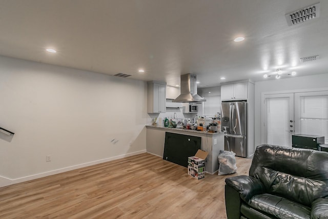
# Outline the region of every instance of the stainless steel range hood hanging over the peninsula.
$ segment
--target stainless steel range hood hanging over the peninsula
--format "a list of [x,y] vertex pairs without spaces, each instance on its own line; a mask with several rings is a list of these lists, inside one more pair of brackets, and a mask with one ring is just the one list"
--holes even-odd
[[178,103],[189,103],[189,102],[206,102],[197,94],[197,76],[196,74],[182,74],[181,78],[181,89],[180,95],[173,99],[172,102]]

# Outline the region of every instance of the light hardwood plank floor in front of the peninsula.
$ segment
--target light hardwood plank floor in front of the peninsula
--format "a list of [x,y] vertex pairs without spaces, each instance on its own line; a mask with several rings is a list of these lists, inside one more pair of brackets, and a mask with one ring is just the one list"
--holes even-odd
[[0,188],[0,218],[226,218],[224,179],[143,153]]

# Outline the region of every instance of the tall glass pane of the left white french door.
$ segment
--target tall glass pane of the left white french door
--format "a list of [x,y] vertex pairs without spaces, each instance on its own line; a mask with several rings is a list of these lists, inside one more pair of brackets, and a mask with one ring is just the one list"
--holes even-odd
[[291,146],[292,139],[289,132],[290,98],[266,98],[265,121],[267,125],[267,144]]

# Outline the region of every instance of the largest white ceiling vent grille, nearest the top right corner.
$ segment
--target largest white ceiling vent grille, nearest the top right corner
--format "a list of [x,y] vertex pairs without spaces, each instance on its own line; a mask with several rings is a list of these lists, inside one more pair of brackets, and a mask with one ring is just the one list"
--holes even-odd
[[310,19],[319,17],[320,10],[319,10],[320,3],[315,5],[300,9],[298,11],[294,11],[292,13],[286,14],[286,20],[289,26],[296,25],[299,23],[303,23],[309,21]]

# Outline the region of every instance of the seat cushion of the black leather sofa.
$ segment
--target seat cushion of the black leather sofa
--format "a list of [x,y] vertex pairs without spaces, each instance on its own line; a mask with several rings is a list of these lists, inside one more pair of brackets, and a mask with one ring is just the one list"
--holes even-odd
[[311,208],[273,194],[254,195],[249,205],[278,218],[310,218]]

